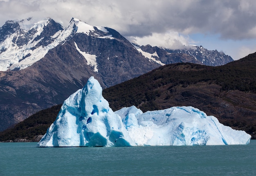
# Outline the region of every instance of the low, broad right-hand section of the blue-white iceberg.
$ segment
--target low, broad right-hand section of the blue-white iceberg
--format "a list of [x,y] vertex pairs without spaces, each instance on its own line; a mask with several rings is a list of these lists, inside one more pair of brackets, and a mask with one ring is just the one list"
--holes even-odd
[[193,108],[172,107],[141,113],[135,106],[119,114],[136,145],[235,145],[249,144],[244,131],[222,125],[213,116]]

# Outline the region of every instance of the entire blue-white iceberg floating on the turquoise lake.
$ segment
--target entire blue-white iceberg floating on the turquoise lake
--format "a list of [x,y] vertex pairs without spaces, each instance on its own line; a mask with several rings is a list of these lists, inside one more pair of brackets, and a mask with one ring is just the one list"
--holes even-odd
[[142,112],[135,106],[113,112],[99,82],[67,98],[38,147],[156,145],[244,145],[251,135],[219,123],[192,106]]

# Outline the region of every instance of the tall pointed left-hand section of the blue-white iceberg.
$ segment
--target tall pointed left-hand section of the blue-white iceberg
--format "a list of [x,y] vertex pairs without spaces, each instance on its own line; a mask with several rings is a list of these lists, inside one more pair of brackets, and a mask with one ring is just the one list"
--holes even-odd
[[38,143],[39,147],[132,145],[135,143],[121,117],[109,107],[94,77],[64,101],[56,120]]

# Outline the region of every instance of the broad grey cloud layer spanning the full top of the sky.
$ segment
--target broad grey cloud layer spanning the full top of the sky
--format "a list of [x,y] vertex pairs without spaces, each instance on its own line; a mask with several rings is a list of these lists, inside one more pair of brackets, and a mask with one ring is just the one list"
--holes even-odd
[[219,33],[224,39],[256,38],[255,0],[4,0],[0,22],[51,17],[67,26],[72,17],[109,26],[126,36]]

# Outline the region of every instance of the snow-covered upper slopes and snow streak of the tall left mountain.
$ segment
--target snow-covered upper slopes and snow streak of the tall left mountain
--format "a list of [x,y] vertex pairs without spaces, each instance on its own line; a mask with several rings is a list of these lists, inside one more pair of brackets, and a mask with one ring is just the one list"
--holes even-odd
[[[75,18],[66,29],[50,18],[39,22],[32,18],[18,22],[7,21],[0,28],[0,70],[27,68],[42,59],[50,49],[69,40],[75,33],[113,39],[106,28],[94,27]],[[76,44],[75,46],[82,55],[86,55]],[[88,63],[96,68],[92,60]]]

